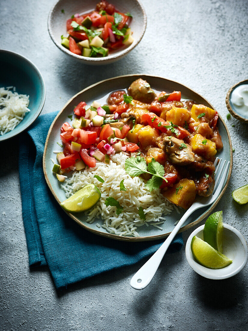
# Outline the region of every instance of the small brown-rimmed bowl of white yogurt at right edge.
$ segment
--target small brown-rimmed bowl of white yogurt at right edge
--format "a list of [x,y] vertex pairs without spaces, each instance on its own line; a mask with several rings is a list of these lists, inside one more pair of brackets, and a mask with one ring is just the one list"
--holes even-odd
[[229,89],[225,103],[233,117],[248,123],[248,79],[242,80]]

